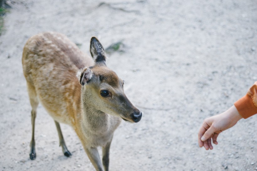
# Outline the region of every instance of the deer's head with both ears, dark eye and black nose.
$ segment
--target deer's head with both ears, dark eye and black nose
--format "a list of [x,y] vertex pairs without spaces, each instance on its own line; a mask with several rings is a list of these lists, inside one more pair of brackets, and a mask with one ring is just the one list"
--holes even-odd
[[142,113],[126,97],[123,80],[107,67],[105,51],[96,37],[91,38],[90,53],[95,65],[85,67],[77,74],[82,85],[83,105],[92,106],[89,110],[102,111],[128,122],[139,122]]

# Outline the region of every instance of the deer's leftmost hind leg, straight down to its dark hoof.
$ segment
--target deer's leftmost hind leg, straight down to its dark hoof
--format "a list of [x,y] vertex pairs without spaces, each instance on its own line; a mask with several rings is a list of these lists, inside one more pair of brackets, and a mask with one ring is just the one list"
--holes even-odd
[[29,157],[31,160],[34,160],[36,158],[36,149],[35,149],[35,138],[34,138],[34,132],[35,132],[35,118],[37,115],[37,107],[39,104],[37,94],[35,87],[29,83],[27,83],[27,88],[28,88],[28,93],[29,93],[29,101],[30,105],[32,107],[31,110],[31,124],[32,124],[32,137],[31,137],[31,142],[30,142],[30,153]]

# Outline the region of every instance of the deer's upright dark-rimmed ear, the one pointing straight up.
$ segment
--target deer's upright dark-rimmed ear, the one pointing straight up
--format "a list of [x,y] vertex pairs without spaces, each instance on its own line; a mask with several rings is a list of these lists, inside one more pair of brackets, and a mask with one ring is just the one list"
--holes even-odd
[[106,54],[102,47],[102,44],[99,42],[99,40],[96,37],[92,37],[90,40],[90,53],[93,58],[93,60],[98,63],[104,63],[106,65]]

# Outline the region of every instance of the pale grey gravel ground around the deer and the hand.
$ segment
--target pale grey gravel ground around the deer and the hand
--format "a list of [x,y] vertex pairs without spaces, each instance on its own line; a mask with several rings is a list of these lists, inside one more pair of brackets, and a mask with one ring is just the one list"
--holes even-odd
[[143,117],[116,130],[110,170],[257,170],[257,116],[222,132],[213,150],[197,144],[204,118],[228,109],[257,80],[255,0],[9,2],[0,37],[0,170],[94,170],[75,132],[61,124],[73,154],[63,155],[42,106],[37,158],[29,159],[31,107],[21,57],[29,37],[43,31],[66,34],[87,54],[92,36],[104,47],[123,43],[107,64]]

